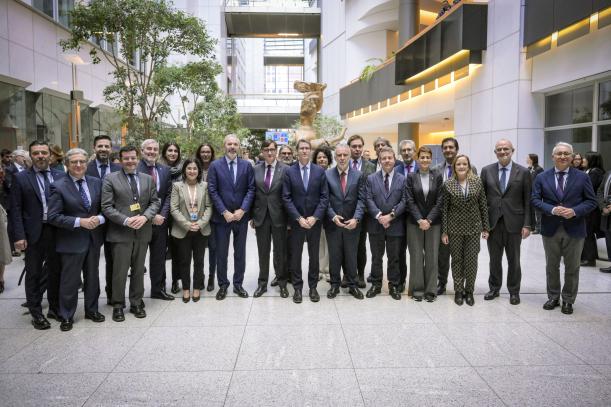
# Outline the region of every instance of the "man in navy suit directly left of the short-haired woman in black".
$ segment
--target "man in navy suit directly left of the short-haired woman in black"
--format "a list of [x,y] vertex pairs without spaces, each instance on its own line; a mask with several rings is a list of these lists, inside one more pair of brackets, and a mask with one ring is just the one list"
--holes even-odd
[[405,177],[395,169],[395,152],[392,148],[382,147],[379,158],[382,169],[367,177],[372,279],[367,298],[382,292],[382,257],[386,251],[390,296],[400,300],[399,251],[405,236]]

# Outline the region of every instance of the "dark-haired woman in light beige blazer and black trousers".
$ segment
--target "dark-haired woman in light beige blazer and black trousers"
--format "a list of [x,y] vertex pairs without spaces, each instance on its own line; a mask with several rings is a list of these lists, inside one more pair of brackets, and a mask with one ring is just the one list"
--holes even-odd
[[182,300],[191,299],[191,259],[193,259],[193,302],[199,301],[204,285],[204,254],[210,235],[212,202],[208,184],[202,181],[202,170],[195,160],[186,160],[181,182],[172,185],[170,208],[174,225],[172,236],[180,261]]

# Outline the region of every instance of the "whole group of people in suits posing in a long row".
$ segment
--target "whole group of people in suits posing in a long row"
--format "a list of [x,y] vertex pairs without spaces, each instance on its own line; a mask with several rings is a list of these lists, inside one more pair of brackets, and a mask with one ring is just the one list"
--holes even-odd
[[[312,302],[320,300],[317,286],[325,267],[328,298],[336,297],[340,287],[356,299],[380,294],[386,256],[391,298],[400,300],[407,290],[415,301],[435,301],[446,291],[451,265],[455,303],[473,305],[483,238],[490,255],[484,299],[499,296],[505,253],[509,301],[516,305],[521,241],[535,228],[534,212],[539,213],[547,263],[544,308],[554,309],[562,299],[562,312],[573,312],[586,218],[600,208],[601,218],[609,224],[611,171],[601,181],[597,198],[590,177],[572,167],[574,154],[567,143],[554,147],[553,168],[534,174],[536,168],[513,161],[512,143],[501,139],[494,148],[496,161],[480,176],[451,137],[442,141],[444,160],[436,166],[431,149],[416,149],[410,140],[399,144],[400,156],[383,138],[374,142],[376,159],[364,159],[364,149],[359,135],[337,145],[334,154],[324,149],[312,153],[307,140],[299,140],[296,151],[266,140],[254,164],[240,158],[235,135],[225,138],[224,155],[218,159],[209,144],[202,144],[193,158],[183,159],[176,143],[160,150],[159,143],[149,139],[140,148],[122,147],[117,164],[110,159],[110,138],[98,136],[93,157],[80,148],[65,154],[64,172],[50,167],[47,143],[32,142],[32,167],[20,166],[5,189],[14,247],[25,251],[26,305],[33,326],[48,329],[47,318],[52,318],[62,331],[70,330],[81,284],[85,318],[105,320],[98,307],[102,247],[107,301],[116,322],[125,320],[128,277],[129,312],[136,318],[146,317],[147,271],[151,298],[174,299],[166,292],[168,255],[172,293],[182,288],[183,302],[197,302],[201,290],[214,290],[216,275],[216,299],[223,300],[230,286],[231,235],[232,290],[247,298],[243,280],[249,226],[255,230],[258,248],[254,297],[271,285],[287,298],[287,285],[292,284],[293,302],[303,301],[301,265],[307,243],[307,295]],[[365,278],[367,238],[372,258]],[[271,284],[270,254],[275,273]],[[322,264],[325,261],[328,265]],[[363,294],[367,282],[371,285]],[[42,311],[45,290],[47,318]]]

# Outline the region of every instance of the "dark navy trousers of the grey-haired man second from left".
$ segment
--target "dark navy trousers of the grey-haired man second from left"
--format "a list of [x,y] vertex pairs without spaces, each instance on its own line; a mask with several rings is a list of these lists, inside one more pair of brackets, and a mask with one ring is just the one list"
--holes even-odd
[[100,247],[89,246],[84,253],[62,253],[59,283],[59,315],[67,320],[74,317],[78,306],[78,290],[83,271],[85,313],[98,311],[100,297]]

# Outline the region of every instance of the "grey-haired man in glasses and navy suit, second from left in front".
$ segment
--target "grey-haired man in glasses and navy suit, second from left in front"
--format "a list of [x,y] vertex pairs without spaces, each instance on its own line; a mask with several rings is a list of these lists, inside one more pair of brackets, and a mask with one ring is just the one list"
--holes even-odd
[[55,248],[61,258],[59,284],[60,329],[72,329],[83,271],[85,318],[103,322],[98,312],[100,296],[100,247],[104,234],[100,225],[102,181],[85,176],[87,152],[73,148],[66,153],[68,176],[51,184],[49,223],[56,226]]

